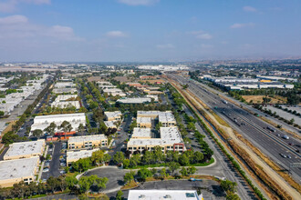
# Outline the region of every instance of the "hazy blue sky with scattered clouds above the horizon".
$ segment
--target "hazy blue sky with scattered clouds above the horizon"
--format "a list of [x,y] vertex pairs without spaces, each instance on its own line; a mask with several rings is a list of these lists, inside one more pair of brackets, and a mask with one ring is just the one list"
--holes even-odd
[[0,0],[0,62],[301,55],[301,0]]

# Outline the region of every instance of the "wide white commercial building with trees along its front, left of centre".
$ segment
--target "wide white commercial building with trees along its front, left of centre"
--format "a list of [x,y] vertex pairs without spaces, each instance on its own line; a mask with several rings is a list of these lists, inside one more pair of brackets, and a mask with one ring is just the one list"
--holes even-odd
[[[78,125],[86,125],[86,115],[84,113],[78,113],[36,116],[34,119],[34,124],[31,126],[31,131],[34,131],[36,129],[44,130],[51,123],[55,123],[57,126],[59,126],[64,121],[70,123],[70,125],[72,126],[71,131],[77,131]],[[60,131],[59,128],[57,128],[57,131]]]

